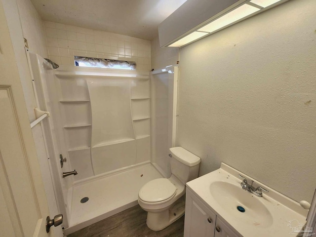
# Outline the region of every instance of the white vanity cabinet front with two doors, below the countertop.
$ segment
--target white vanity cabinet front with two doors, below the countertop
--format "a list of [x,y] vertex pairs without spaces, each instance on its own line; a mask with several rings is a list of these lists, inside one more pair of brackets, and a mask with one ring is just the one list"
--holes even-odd
[[187,189],[184,237],[240,237]]

